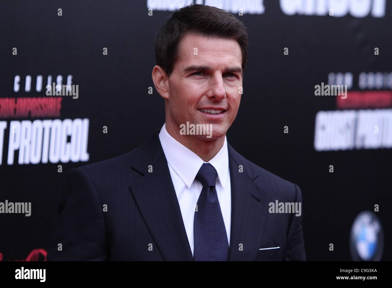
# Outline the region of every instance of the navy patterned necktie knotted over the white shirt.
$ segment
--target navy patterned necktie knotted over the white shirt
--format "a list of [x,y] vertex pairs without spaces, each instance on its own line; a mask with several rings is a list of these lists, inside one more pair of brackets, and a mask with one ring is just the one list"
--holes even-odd
[[229,242],[215,188],[217,176],[210,163],[203,163],[196,175],[203,189],[194,212],[194,261],[227,261],[229,257]]

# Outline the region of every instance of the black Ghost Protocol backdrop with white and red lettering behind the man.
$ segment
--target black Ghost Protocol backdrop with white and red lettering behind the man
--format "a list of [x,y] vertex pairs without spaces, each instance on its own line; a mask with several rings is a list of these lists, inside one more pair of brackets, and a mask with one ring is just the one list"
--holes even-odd
[[227,139],[301,187],[307,259],[392,260],[387,0],[2,3],[0,260],[45,260],[67,172],[132,150],[162,127],[153,39],[192,2],[247,27],[243,95]]

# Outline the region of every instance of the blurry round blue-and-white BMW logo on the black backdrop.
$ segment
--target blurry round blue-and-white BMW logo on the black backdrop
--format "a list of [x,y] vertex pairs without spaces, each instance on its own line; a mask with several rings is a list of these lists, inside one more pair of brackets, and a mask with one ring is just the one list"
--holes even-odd
[[384,249],[384,232],[376,214],[363,211],[354,219],[350,233],[353,261],[380,261]]

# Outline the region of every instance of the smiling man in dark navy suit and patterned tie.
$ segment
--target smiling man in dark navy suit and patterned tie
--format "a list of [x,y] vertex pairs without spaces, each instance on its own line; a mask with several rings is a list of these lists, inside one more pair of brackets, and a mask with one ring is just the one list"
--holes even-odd
[[47,260],[305,260],[301,214],[269,213],[276,200],[301,203],[301,190],[227,143],[242,22],[183,7],[156,34],[155,54],[165,124],[137,149],[69,172]]

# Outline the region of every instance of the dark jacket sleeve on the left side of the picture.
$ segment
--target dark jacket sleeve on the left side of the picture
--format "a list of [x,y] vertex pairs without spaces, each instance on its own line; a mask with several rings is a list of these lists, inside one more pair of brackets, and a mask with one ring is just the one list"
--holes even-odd
[[87,172],[83,168],[69,171],[60,195],[58,219],[47,261],[108,260],[103,213]]

